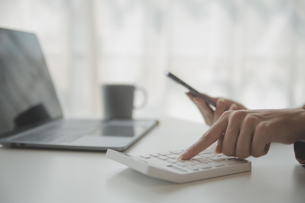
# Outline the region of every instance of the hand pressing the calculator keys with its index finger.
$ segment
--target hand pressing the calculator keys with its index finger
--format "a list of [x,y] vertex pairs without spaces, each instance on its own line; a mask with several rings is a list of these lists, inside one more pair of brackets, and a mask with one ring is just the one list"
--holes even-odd
[[241,159],[260,157],[267,154],[272,142],[305,142],[304,124],[304,109],[226,111],[179,158],[191,159],[217,140],[215,153]]

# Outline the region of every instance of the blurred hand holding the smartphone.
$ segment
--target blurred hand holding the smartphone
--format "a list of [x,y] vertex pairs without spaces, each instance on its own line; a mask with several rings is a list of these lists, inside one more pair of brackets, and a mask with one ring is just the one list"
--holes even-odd
[[191,92],[188,92],[187,95],[198,107],[203,118],[209,126],[213,125],[225,111],[246,109],[246,107],[243,105],[229,99],[210,97],[204,94],[216,103],[216,110],[212,111],[203,99],[194,96]]

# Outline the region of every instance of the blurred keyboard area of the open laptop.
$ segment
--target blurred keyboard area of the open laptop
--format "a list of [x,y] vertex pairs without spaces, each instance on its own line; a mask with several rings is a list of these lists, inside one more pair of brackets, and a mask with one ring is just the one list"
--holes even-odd
[[23,133],[22,137],[13,139],[16,142],[70,143],[101,125],[92,120],[61,120]]

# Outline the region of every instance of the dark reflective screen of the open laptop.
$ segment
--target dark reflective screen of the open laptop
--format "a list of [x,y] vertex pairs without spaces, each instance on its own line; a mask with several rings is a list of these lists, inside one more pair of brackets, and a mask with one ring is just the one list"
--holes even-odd
[[59,117],[37,37],[0,28],[0,137]]

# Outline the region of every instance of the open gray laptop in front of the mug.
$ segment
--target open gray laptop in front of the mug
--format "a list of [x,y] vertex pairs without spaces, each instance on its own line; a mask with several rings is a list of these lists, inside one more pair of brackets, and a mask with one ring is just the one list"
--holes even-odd
[[123,151],[157,123],[64,118],[36,35],[0,28],[1,145]]

